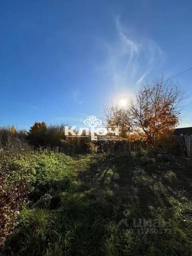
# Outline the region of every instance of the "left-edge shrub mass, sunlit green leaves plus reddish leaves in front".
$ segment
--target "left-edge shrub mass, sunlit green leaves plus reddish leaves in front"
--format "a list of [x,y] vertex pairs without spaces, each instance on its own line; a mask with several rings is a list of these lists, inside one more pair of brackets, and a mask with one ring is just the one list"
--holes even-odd
[[19,211],[34,191],[70,175],[71,158],[49,150],[0,153],[0,246],[12,233]]

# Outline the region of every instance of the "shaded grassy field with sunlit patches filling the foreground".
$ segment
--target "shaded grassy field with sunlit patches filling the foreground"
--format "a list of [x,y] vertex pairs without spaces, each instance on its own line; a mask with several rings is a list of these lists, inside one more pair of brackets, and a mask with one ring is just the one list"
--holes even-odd
[[21,166],[38,177],[1,255],[192,255],[191,160],[52,153]]

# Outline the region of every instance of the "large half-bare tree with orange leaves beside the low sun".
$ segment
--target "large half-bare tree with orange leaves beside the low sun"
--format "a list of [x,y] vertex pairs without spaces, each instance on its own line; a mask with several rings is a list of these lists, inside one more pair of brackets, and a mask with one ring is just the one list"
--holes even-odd
[[[126,107],[105,108],[106,119],[119,125],[126,132],[135,132],[153,141],[169,137],[180,121],[185,92],[178,83],[155,78],[151,83],[146,80],[135,97],[129,98]],[[116,122],[117,120],[117,122]]]

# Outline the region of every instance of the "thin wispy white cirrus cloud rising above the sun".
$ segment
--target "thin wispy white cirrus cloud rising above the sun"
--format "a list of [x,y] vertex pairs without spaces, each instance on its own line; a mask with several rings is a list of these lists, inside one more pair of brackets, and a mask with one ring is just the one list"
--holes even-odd
[[102,41],[107,58],[101,68],[118,91],[120,87],[137,86],[152,70],[161,67],[166,56],[155,41],[137,35],[119,17],[115,19],[115,28],[116,40]]

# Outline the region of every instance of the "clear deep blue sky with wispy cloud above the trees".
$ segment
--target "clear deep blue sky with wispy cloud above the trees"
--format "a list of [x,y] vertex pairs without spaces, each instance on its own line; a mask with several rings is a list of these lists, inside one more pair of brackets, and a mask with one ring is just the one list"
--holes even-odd
[[[192,67],[192,1],[33,0],[0,4],[0,125],[79,125],[139,82]],[[192,126],[192,70],[183,126]]]

